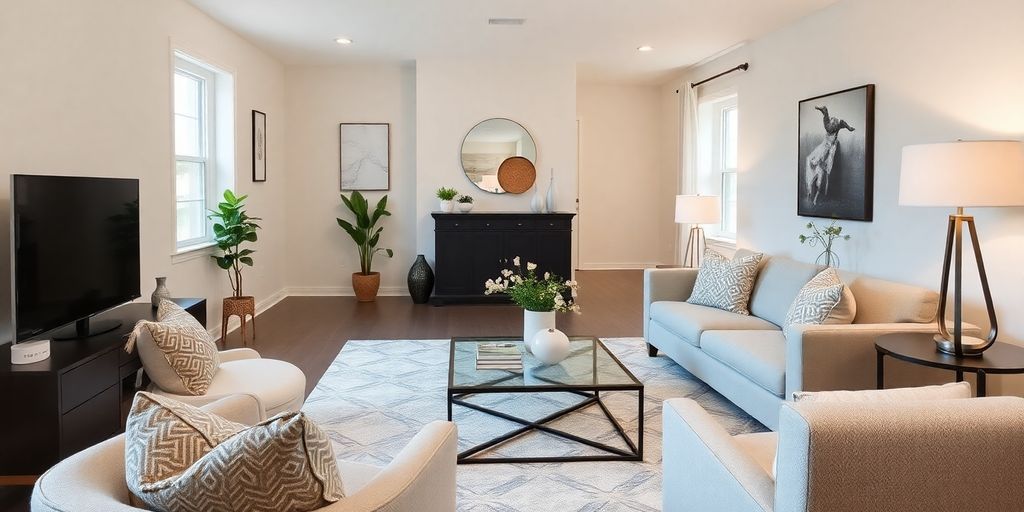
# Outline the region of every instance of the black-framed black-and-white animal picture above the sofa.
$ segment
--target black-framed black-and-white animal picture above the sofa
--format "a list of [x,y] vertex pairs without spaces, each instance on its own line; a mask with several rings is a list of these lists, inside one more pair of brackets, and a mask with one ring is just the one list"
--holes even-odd
[[800,101],[797,215],[871,220],[874,85]]

